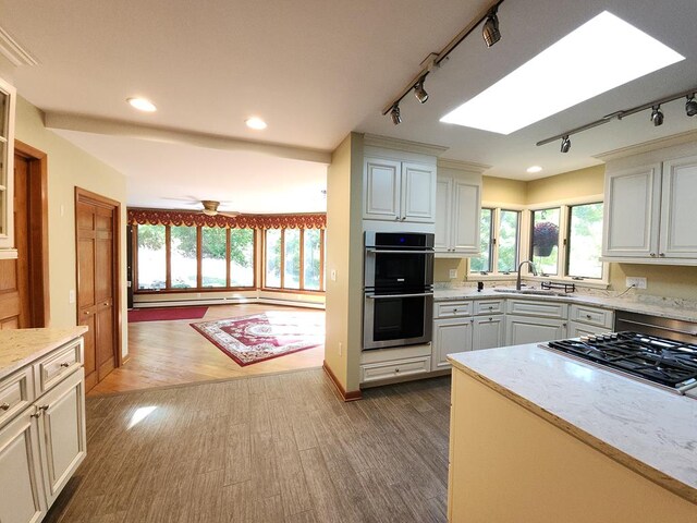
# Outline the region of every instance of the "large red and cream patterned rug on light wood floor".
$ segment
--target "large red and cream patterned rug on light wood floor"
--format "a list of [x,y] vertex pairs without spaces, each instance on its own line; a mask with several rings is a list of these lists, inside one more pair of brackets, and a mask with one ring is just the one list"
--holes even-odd
[[325,313],[272,311],[191,324],[241,366],[325,343]]

